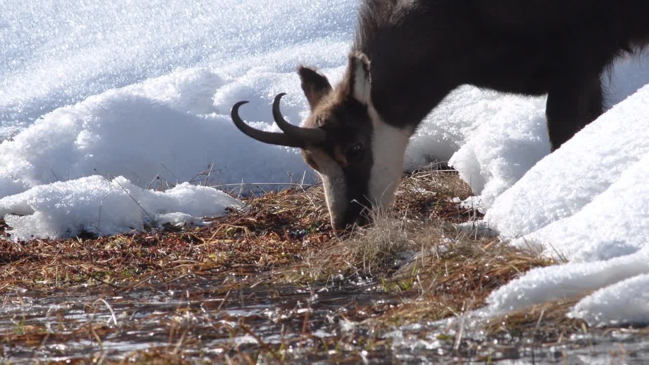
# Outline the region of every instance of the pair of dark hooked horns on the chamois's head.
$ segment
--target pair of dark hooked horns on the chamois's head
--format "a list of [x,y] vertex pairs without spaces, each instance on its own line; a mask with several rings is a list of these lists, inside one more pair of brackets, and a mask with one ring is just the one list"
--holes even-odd
[[325,131],[321,129],[298,127],[297,125],[292,125],[284,119],[282,112],[280,112],[280,100],[284,95],[286,94],[277,94],[275,101],[273,101],[273,119],[275,119],[275,123],[277,123],[277,126],[280,127],[282,133],[260,131],[259,129],[250,127],[243,120],[241,120],[241,117],[239,117],[239,107],[248,103],[248,101],[239,101],[238,103],[236,103],[232,107],[230,117],[232,118],[232,121],[234,121],[234,125],[237,126],[239,131],[263,143],[304,148],[306,147],[306,145],[317,145],[322,144],[324,141],[326,141]]

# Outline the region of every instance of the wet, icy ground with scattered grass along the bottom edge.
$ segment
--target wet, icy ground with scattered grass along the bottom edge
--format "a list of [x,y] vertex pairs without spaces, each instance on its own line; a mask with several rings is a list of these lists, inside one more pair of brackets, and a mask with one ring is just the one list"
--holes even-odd
[[123,293],[86,287],[5,292],[0,297],[0,362],[149,363],[159,358],[162,363],[206,364],[646,364],[649,360],[648,337],[633,329],[589,330],[543,343],[484,338],[480,323],[469,317],[376,326],[372,318],[401,299],[386,294],[381,283],[358,277],[313,286],[224,288],[222,281],[184,278],[142,284]]

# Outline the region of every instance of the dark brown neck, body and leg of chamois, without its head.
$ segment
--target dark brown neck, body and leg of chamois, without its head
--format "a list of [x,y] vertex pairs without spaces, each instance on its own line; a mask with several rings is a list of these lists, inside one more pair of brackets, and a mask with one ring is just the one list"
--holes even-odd
[[418,125],[461,84],[548,94],[556,149],[602,114],[613,60],[648,42],[645,0],[365,0],[354,51],[387,123]]

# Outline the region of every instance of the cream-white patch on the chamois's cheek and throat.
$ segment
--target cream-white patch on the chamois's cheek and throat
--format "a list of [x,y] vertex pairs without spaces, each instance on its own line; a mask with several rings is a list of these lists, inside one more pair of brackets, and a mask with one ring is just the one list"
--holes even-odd
[[404,155],[413,133],[385,123],[374,109],[368,107],[374,126],[372,135],[373,165],[369,174],[368,199],[375,208],[386,209],[395,195],[403,173]]

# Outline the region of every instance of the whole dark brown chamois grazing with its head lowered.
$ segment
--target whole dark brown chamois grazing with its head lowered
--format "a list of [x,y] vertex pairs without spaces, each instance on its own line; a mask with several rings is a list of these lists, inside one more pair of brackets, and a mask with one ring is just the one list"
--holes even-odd
[[602,75],[615,58],[649,44],[646,0],[364,0],[343,81],[332,88],[300,66],[311,108],[304,127],[252,129],[261,142],[300,147],[322,181],[334,229],[386,208],[408,140],[424,117],[463,84],[548,95],[550,149],[602,114]]

